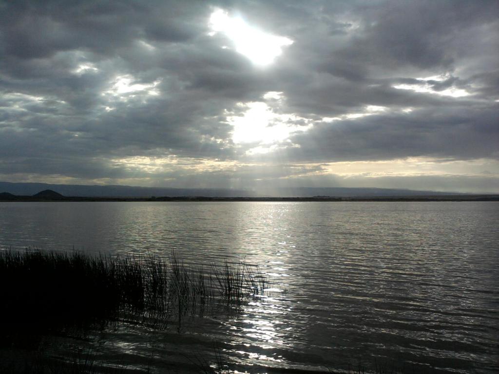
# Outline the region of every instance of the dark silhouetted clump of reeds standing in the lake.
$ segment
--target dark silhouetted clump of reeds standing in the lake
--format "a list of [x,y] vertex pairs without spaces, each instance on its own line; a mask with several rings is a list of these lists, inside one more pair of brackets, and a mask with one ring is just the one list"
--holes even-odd
[[206,274],[184,266],[174,253],[164,260],[2,251],[0,341],[8,345],[24,335],[68,334],[109,322],[180,324],[182,316],[202,314],[214,301],[241,303],[263,292],[244,263],[211,269]]

